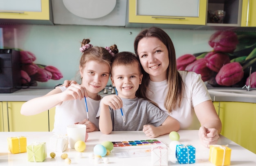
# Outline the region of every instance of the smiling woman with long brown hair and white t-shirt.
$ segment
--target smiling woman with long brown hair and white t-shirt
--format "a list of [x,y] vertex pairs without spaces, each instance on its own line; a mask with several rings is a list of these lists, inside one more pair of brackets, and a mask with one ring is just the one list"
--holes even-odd
[[[200,74],[178,71],[171,38],[161,28],[142,30],[134,41],[135,54],[143,68],[137,96],[151,100],[180,122],[180,129],[193,128],[194,114],[204,144],[216,144],[222,128],[220,118]],[[163,100],[164,98],[164,100]]]

